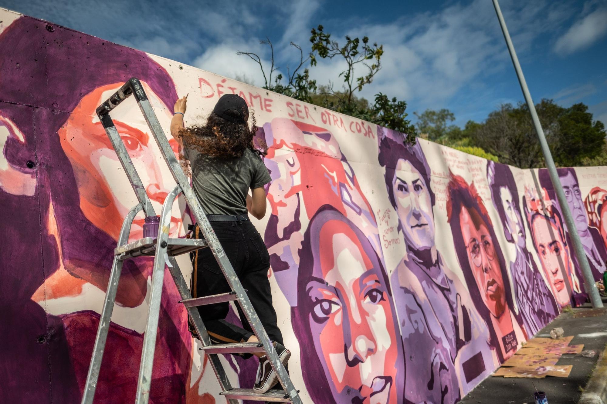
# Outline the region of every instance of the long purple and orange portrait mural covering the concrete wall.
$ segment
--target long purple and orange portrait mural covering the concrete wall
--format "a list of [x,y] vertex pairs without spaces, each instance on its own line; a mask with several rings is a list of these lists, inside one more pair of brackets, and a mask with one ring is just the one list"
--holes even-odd
[[[586,300],[544,170],[423,140],[405,146],[393,130],[178,62],[5,10],[0,21],[5,400],[80,402],[118,231],[136,201],[95,108],[131,76],[166,129],[178,94],[189,93],[189,124],[223,93],[254,111],[273,178],[268,213],[254,223],[304,402],[456,402]],[[137,104],[112,118],[159,210],[174,181]],[[602,279],[607,167],[559,175]],[[186,234],[181,200],[171,223],[171,235]],[[178,261],[189,279],[188,257]],[[124,265],[97,402],[134,400],[150,274],[148,258]],[[151,402],[225,403],[165,279]],[[255,359],[222,361],[235,384],[253,384]]]

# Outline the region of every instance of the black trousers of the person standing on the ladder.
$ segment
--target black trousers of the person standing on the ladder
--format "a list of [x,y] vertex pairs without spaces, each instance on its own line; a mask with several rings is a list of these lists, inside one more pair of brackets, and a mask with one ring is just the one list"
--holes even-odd
[[[211,226],[222,244],[223,250],[236,275],[240,279],[253,308],[272,341],[284,345],[280,329],[276,325],[276,311],[272,306],[272,292],[268,280],[270,255],[263,239],[249,220],[213,221]],[[198,226],[194,237],[204,238]],[[203,297],[230,292],[228,281],[223,276],[211,249],[205,248],[190,254],[192,258],[192,297]],[[213,343],[246,342],[253,330],[246,320],[240,305],[236,307],[243,328],[225,320],[229,302],[198,306],[198,312],[205,323]],[[251,354],[239,354],[250,357]]]

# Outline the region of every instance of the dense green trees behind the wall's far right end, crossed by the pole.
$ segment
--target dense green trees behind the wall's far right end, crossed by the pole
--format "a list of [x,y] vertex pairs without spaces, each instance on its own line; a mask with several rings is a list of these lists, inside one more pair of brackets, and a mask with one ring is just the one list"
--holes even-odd
[[[584,104],[566,108],[551,99],[535,106],[555,164],[561,167],[607,165],[605,126],[592,121]],[[421,136],[466,153],[521,168],[543,167],[544,156],[526,104],[503,104],[483,123],[468,121],[464,129],[449,125],[447,109],[426,110],[416,123]]]

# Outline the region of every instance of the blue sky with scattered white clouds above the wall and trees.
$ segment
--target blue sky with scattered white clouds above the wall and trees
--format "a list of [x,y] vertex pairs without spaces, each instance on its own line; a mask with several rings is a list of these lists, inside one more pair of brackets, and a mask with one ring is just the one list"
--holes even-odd
[[[583,102],[607,124],[607,0],[501,0],[534,101]],[[259,67],[274,43],[277,66],[299,61],[318,24],[336,39],[384,44],[383,68],[362,92],[404,99],[408,111],[450,109],[456,124],[483,121],[501,103],[523,99],[490,0],[118,1],[0,0],[0,6],[155,55],[263,85]],[[343,65],[321,61],[312,75],[339,86]],[[336,86],[336,87],[337,87]]]

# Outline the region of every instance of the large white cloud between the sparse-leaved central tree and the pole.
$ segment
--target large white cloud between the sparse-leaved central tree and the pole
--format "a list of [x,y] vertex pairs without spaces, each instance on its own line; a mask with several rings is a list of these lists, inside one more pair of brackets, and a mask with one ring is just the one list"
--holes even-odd
[[490,4],[473,1],[350,32],[384,44],[382,69],[362,95],[397,96],[409,101],[412,110],[443,106],[473,78],[493,69],[496,60],[504,59],[504,45],[491,29],[493,19]]

